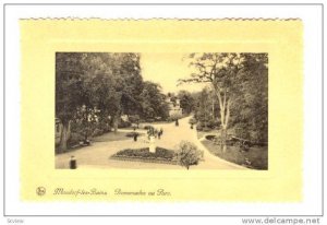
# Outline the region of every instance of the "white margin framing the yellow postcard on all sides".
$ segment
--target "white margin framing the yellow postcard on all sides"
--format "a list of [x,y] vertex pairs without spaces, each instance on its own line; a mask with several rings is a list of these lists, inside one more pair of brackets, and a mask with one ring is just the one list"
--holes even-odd
[[[299,17],[304,23],[304,200],[302,203],[26,203],[20,201],[19,19]],[[319,5],[7,5],[5,214],[319,215],[322,214],[322,9]],[[2,157],[2,156],[1,156]],[[2,158],[1,158],[2,159]]]

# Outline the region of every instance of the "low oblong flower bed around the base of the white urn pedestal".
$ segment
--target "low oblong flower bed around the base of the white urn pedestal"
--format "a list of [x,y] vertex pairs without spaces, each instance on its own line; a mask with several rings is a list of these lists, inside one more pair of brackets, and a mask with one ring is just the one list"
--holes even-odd
[[148,147],[126,149],[110,156],[111,159],[134,161],[144,163],[177,164],[175,153],[172,150],[156,147],[156,152],[149,152]]

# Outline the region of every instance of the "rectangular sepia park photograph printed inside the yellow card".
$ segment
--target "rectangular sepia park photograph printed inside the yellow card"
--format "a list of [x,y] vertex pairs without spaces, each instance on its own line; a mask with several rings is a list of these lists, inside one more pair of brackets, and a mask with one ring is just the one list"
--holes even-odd
[[268,169],[268,54],[57,52],[56,169]]

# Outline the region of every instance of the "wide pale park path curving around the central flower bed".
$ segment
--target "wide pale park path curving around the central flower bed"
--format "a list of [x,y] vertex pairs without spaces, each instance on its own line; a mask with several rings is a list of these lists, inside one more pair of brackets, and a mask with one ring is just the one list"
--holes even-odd
[[[204,152],[204,161],[197,166],[191,166],[190,169],[246,169],[239,165],[223,161],[213,155],[197,139],[196,129],[190,128],[189,119],[185,117],[179,120],[177,127],[174,122],[156,123],[155,128],[164,129],[164,134],[160,140],[156,140],[156,145],[165,149],[177,149],[180,141],[190,141],[197,145]],[[126,130],[121,130],[128,132]],[[132,130],[131,130],[132,131]],[[68,168],[70,157],[74,155],[78,167],[94,168],[136,168],[136,169],[184,169],[178,165],[123,162],[109,159],[109,157],[123,149],[148,147],[146,135],[140,137],[137,142],[131,140],[110,141],[110,142],[94,142],[90,146],[86,146],[73,152],[60,154],[56,156],[56,168]]]

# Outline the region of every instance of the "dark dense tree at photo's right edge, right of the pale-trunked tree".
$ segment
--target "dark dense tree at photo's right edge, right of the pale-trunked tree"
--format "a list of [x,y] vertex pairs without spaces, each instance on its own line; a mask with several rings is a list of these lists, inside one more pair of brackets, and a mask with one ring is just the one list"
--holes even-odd
[[240,94],[231,106],[232,125],[238,135],[254,142],[268,141],[268,58],[246,54],[240,72]]

